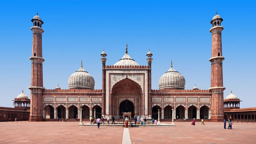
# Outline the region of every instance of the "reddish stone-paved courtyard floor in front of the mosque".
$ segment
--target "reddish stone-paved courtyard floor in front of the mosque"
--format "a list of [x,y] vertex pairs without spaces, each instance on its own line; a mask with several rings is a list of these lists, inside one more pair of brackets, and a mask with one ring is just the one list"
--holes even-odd
[[[222,123],[176,122],[176,127],[134,127],[129,133],[122,127],[78,127],[79,122],[0,122],[0,144],[255,144],[256,123],[234,123],[224,129]],[[166,122],[169,123],[169,122]],[[169,123],[170,124],[170,123]],[[130,134],[123,141],[123,134]]]

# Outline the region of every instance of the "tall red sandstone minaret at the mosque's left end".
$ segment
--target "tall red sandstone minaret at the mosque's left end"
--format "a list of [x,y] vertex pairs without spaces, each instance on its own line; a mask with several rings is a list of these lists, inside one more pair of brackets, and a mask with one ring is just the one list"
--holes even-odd
[[32,56],[29,58],[32,61],[31,68],[31,99],[30,99],[30,117],[29,121],[43,120],[43,62],[42,58],[42,29],[43,21],[37,15],[31,20],[33,26],[30,28],[33,31],[32,41]]

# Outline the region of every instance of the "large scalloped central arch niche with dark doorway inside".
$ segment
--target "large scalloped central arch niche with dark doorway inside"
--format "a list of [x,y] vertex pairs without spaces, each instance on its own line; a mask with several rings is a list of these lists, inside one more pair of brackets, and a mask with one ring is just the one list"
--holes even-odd
[[[139,116],[144,110],[142,89],[140,85],[129,78],[117,82],[111,90],[110,115],[119,118],[123,110]],[[127,103],[126,103],[127,102]]]

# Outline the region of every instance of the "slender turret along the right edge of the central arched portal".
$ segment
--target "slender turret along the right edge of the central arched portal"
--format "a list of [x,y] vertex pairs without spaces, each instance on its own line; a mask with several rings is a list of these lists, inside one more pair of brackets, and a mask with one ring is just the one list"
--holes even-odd
[[147,61],[148,61],[148,110],[149,110],[149,119],[151,119],[151,113],[152,113],[152,107],[151,107],[151,63],[152,63],[152,53],[150,52],[150,49],[147,53]]

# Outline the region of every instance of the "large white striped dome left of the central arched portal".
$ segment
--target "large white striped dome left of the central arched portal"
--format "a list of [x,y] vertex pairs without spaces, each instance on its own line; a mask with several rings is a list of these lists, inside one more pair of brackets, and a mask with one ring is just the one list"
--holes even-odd
[[94,78],[84,70],[83,65],[68,79],[69,89],[94,89],[94,85]]

